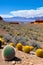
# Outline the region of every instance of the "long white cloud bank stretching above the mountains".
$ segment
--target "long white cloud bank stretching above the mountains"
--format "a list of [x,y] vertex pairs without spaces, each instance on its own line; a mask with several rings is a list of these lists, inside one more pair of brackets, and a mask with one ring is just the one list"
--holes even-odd
[[43,16],[43,7],[37,8],[37,9],[30,9],[30,10],[17,10],[17,11],[11,11],[8,15],[1,15],[4,18],[9,17],[41,17]]

